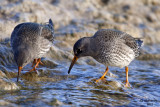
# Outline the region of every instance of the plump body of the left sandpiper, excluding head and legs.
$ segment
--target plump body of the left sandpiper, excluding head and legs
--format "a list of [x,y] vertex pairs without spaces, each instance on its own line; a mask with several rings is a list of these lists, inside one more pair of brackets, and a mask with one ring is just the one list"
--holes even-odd
[[54,40],[52,20],[49,23],[21,23],[17,25],[11,34],[11,46],[13,51],[29,48],[34,58],[42,57],[51,47]]

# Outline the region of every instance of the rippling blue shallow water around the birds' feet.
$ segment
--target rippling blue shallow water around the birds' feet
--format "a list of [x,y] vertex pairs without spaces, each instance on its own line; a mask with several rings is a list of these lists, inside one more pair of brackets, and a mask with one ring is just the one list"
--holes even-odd
[[[0,99],[9,106],[160,106],[160,61],[134,60],[129,66],[132,88],[123,86],[124,68],[109,67],[113,75],[96,84],[104,65],[75,64],[68,75],[69,65],[57,61],[55,67],[40,66],[39,76],[23,78],[17,83],[20,90],[0,92]],[[29,68],[26,66],[22,74]],[[15,65],[6,69],[17,71]],[[16,82],[16,78],[11,80]]]

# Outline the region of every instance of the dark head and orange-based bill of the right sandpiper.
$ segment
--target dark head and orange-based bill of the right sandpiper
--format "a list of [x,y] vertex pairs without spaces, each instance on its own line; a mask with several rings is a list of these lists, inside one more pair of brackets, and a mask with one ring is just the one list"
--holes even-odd
[[93,56],[94,51],[92,49],[91,38],[84,37],[84,38],[79,39],[74,44],[73,51],[74,51],[74,58],[71,62],[70,68],[68,70],[68,74],[70,73],[73,65],[76,63],[78,58],[84,57],[84,56]]

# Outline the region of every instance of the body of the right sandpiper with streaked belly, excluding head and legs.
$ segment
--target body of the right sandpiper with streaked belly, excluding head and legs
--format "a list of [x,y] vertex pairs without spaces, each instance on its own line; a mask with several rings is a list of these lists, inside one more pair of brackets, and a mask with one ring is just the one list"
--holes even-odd
[[93,36],[99,55],[95,57],[99,62],[110,66],[123,67],[139,55],[142,41],[127,33],[114,29],[101,29]]

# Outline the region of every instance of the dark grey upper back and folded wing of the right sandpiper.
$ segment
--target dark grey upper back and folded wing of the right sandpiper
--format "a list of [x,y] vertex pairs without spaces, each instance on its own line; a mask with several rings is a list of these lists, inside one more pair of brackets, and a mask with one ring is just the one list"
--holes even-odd
[[115,29],[101,29],[97,31],[93,37],[96,38],[97,42],[104,45],[104,47],[105,45],[115,44],[116,42],[123,43],[130,47],[136,56],[139,55],[139,48],[143,43],[140,39]]

